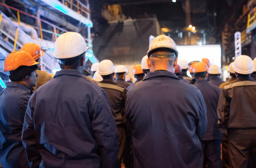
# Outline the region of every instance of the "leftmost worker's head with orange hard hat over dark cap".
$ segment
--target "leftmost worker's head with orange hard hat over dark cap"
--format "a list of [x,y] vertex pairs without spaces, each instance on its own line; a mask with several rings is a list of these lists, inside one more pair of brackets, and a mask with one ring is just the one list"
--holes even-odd
[[28,52],[16,51],[5,58],[3,72],[10,72],[9,79],[12,82],[23,81],[27,86],[34,87],[38,76],[35,71],[38,68],[37,64],[39,62],[36,62]]

